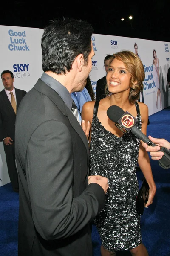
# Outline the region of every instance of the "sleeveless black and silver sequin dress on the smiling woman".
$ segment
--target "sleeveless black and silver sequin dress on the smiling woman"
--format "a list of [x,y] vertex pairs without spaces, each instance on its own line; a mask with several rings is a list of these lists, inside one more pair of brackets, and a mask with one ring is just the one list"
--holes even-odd
[[[141,116],[136,127],[141,130]],[[117,137],[107,131],[94,114],[90,146],[90,175],[108,178],[105,208],[94,220],[102,245],[115,252],[142,243],[140,216],[136,212],[139,184],[136,165],[140,140],[131,132]]]

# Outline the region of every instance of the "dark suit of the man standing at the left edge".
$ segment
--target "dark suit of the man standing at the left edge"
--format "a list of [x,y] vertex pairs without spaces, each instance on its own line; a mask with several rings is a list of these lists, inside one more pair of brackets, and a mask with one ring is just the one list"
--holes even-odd
[[[17,98],[17,110],[20,105],[21,100],[26,95],[26,91],[16,89],[16,98]],[[6,95],[5,90],[0,92],[0,140],[3,140],[6,137],[11,137],[13,140],[12,145],[5,145],[4,151],[6,154],[6,163],[8,167],[8,174],[14,190],[18,190],[18,174],[15,164],[15,152],[14,152],[14,134],[15,134],[15,119],[16,114],[12,108],[11,102]]]

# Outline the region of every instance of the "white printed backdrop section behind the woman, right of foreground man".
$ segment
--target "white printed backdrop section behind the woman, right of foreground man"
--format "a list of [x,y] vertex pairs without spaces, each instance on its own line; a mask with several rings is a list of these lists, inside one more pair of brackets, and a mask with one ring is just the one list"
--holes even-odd
[[[170,88],[167,85],[167,70],[170,63],[168,43],[94,34],[92,44],[95,55],[90,78],[95,93],[97,80],[106,75],[104,67],[106,55],[130,50],[141,59],[144,65],[143,97],[144,103],[149,108],[149,115],[170,105]],[[140,101],[142,102],[142,93],[140,93]]]

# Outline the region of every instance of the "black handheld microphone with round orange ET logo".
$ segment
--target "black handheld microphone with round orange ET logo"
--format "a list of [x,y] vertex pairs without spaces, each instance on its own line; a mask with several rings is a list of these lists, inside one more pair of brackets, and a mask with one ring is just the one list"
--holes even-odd
[[[149,138],[142,133],[135,125],[138,121],[134,116],[132,116],[128,111],[124,111],[122,108],[112,105],[107,110],[107,116],[111,121],[115,122],[115,125],[119,130],[124,133],[131,131],[136,137],[138,137],[143,142],[147,143],[148,146],[156,146]],[[160,147],[159,151],[164,152],[164,155],[159,161],[159,166],[164,169],[170,168],[170,150],[164,147]]]

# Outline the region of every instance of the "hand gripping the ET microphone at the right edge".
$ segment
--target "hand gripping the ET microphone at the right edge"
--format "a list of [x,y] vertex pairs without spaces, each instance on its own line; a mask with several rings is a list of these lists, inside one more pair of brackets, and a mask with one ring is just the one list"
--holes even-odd
[[146,151],[147,152],[150,152],[150,155],[151,155],[151,158],[153,160],[159,160],[162,158],[162,156],[164,155],[163,152],[161,151],[158,151],[160,149],[160,146],[161,147],[165,147],[167,149],[170,149],[170,143],[165,140],[165,139],[156,139],[156,138],[153,138],[151,136],[148,136],[148,138],[153,142],[155,143],[157,146],[154,146],[154,147],[151,147],[151,146],[148,146],[146,143],[142,142],[142,146],[144,148],[146,148]]

